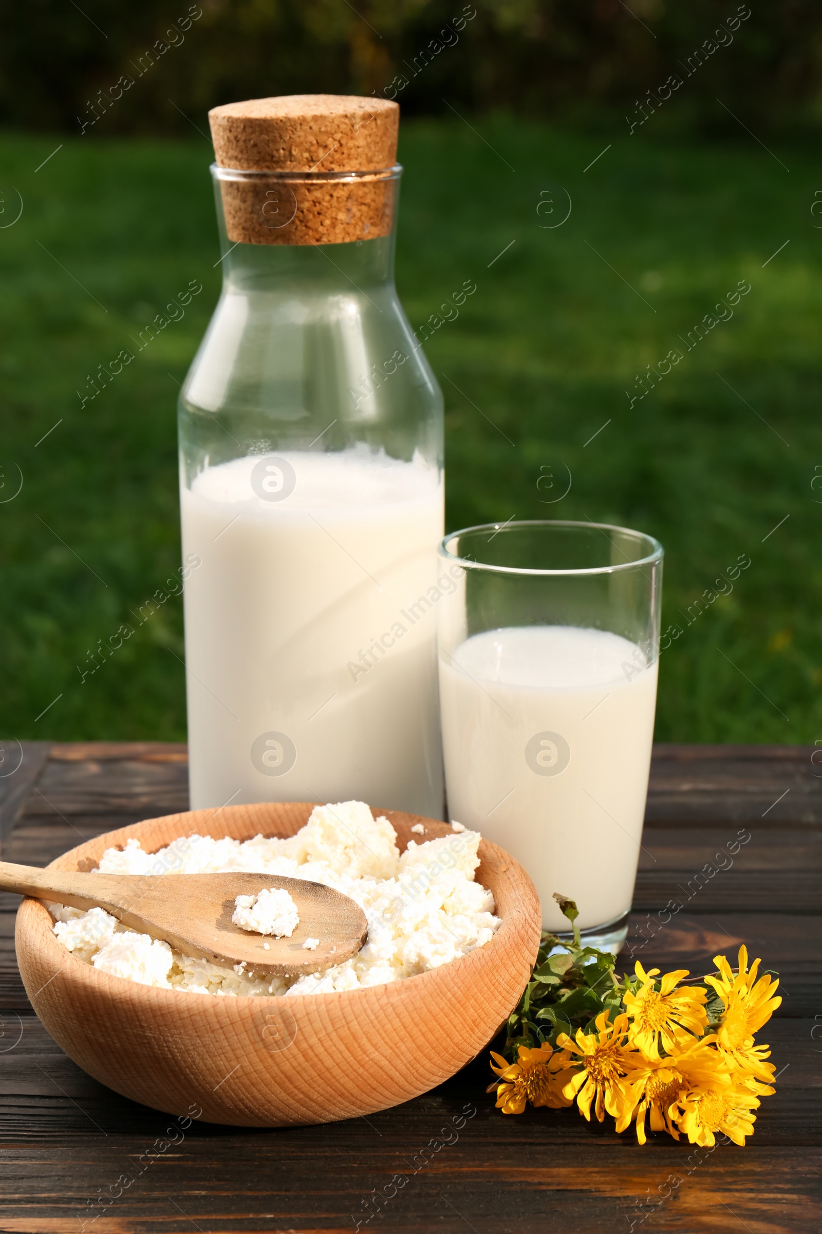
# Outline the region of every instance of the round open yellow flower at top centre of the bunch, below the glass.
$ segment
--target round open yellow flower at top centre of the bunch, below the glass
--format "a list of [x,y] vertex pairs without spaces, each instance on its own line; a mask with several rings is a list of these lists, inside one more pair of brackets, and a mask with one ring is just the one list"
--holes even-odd
[[677,983],[688,976],[688,969],[665,972],[656,991],[654,979],[659,969],[645,971],[637,961],[636,975],[642,981],[637,993],[626,993],[622,1004],[631,1023],[630,1040],[649,1059],[659,1058],[659,1043],[667,1054],[674,1054],[688,1045],[694,1037],[701,1037],[707,1024],[704,986],[685,986]]

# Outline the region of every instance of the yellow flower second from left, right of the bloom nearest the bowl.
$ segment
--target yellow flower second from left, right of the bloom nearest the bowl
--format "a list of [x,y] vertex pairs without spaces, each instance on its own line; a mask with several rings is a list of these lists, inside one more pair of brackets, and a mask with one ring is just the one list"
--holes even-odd
[[576,1097],[580,1113],[590,1122],[590,1106],[601,1123],[605,1112],[616,1119],[616,1130],[624,1132],[631,1122],[637,1098],[630,1081],[626,1079],[642,1056],[636,1050],[626,1048],[629,1022],[626,1016],[617,1016],[609,1023],[610,1012],[604,1011],[596,1017],[596,1032],[583,1033],[577,1029],[576,1044],[567,1033],[561,1033],[557,1045],[578,1054],[582,1070],[566,1085],[564,1096]]

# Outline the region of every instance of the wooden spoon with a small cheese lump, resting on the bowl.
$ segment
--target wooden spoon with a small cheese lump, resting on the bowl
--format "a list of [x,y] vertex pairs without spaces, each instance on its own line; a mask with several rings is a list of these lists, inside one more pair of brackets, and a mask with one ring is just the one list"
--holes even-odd
[[[299,923],[291,938],[264,938],[232,922],[234,898],[256,896],[264,887],[282,887],[296,903]],[[368,933],[365,913],[349,896],[279,874],[78,874],[0,861],[0,891],[105,908],[182,955],[245,963],[248,972],[260,975],[299,976],[341,964],[357,954]],[[307,938],[319,939],[315,950],[303,950]]]

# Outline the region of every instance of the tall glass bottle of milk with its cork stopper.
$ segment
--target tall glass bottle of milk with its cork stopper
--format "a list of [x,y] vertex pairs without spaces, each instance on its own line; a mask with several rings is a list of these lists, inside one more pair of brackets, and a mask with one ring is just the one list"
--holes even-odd
[[[377,106],[254,100],[272,147],[304,99],[320,138]],[[227,167],[253,104],[211,116],[223,290],[179,408],[191,807],[441,817],[442,399],[393,283],[401,168]]]

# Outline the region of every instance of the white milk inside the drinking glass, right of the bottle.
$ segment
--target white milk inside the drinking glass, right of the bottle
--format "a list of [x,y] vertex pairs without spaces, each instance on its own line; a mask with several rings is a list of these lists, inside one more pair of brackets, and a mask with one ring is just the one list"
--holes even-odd
[[507,849],[536,885],[546,929],[631,907],[651,764],[657,661],[619,634],[490,629],[440,656],[449,812]]

